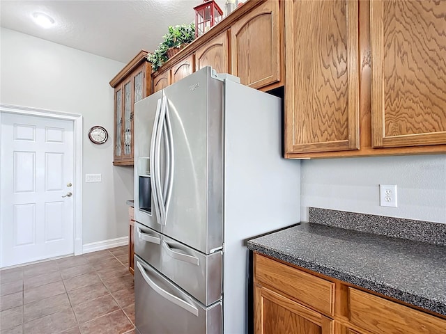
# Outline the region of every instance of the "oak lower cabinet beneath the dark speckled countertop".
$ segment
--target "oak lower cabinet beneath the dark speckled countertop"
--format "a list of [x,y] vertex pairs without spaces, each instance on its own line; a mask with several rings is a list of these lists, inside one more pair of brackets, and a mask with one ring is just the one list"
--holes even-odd
[[446,317],[254,253],[256,334],[440,334]]

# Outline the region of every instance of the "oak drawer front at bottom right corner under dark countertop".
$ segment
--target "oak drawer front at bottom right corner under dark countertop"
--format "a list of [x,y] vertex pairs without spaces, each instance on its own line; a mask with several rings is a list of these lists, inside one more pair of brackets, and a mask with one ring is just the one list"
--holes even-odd
[[348,289],[348,307],[351,323],[372,333],[446,333],[446,320],[357,289]]

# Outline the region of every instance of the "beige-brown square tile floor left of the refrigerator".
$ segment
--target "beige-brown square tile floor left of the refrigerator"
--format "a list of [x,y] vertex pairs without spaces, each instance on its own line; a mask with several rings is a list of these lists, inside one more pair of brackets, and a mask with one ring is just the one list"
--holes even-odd
[[134,330],[127,246],[0,271],[1,334]]

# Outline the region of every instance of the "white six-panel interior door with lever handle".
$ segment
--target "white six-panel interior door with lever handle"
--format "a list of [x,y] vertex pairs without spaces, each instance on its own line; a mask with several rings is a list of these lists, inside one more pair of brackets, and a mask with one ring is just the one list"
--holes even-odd
[[1,114],[0,267],[73,253],[73,141],[70,120]]

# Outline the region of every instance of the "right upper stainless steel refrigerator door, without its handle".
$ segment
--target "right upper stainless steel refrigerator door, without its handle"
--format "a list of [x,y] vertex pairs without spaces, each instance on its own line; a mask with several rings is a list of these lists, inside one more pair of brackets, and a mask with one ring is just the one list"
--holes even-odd
[[162,233],[210,253],[222,246],[222,82],[210,79],[210,67],[205,67],[164,93],[174,176]]

